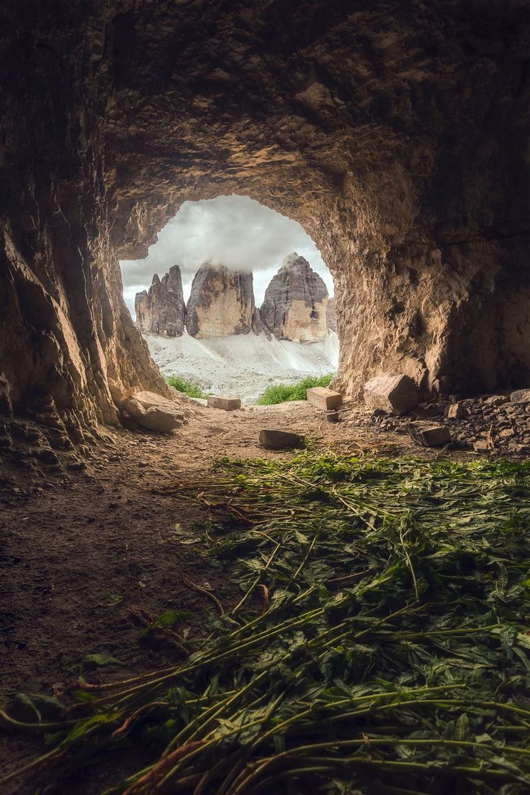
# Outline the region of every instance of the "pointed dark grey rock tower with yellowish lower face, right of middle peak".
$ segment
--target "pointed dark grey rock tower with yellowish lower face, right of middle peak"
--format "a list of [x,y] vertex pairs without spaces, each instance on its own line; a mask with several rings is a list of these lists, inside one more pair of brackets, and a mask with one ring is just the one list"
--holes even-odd
[[307,259],[296,252],[265,290],[261,320],[277,339],[316,342],[327,335],[327,288]]

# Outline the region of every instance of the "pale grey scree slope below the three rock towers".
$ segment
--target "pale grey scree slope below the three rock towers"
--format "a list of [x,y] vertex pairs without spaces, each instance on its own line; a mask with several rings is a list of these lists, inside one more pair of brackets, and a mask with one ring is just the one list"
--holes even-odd
[[265,334],[195,339],[144,335],[164,375],[178,373],[206,392],[242,397],[253,403],[271,384],[292,384],[306,375],[333,373],[339,365],[339,340],[333,332],[316,343],[267,339]]

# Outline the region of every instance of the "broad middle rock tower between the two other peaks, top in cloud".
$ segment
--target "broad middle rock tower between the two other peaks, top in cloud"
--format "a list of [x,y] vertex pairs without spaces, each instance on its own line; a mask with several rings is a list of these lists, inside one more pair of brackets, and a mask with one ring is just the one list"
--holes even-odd
[[191,283],[186,328],[197,339],[259,333],[252,273],[210,263],[200,266]]

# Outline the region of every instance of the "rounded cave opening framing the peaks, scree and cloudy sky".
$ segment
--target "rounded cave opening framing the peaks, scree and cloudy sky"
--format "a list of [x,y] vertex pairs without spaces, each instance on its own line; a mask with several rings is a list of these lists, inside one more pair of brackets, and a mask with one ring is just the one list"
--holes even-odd
[[191,397],[276,401],[288,394],[280,385],[323,385],[338,369],[335,290],[319,249],[249,196],[184,202],[147,257],[120,265],[154,361]]

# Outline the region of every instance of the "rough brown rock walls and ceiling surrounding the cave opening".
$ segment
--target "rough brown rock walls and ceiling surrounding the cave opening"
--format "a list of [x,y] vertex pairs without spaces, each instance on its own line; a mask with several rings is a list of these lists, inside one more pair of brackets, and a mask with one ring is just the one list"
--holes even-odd
[[0,373],[75,425],[167,393],[122,300],[184,200],[300,221],[339,382],[530,383],[522,0],[73,0],[2,8]]

